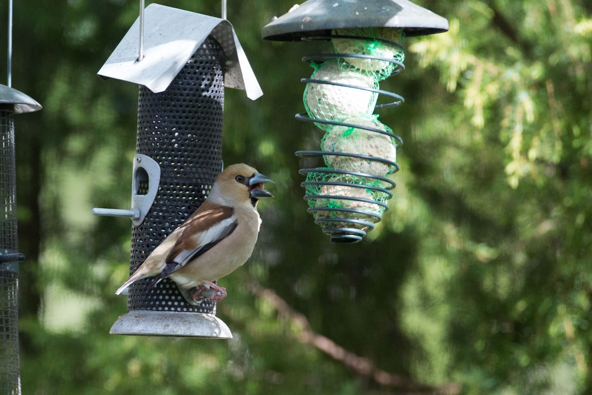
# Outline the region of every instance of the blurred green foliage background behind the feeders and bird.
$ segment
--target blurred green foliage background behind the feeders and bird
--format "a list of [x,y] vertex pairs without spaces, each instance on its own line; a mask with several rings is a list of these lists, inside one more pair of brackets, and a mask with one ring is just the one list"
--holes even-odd
[[[381,83],[406,98],[380,113],[404,140],[390,210],[332,245],[294,156],[322,137],[294,120],[301,57],[330,44],[260,38],[294,0],[229,0],[264,95],[226,89],[223,159],[276,197],[220,281],[220,341],[108,333],[131,221],[91,208],[129,207],[137,86],[96,72],[139,5],[16,0],[12,86],[44,107],[15,116],[22,393],[592,393],[592,1],[416,3],[450,31],[408,38],[407,69]],[[218,1],[159,4],[220,16]]]

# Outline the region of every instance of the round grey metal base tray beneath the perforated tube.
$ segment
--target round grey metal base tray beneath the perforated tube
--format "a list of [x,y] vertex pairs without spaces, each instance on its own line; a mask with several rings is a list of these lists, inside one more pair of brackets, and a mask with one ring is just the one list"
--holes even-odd
[[134,310],[120,316],[112,335],[232,339],[229,327],[214,314]]

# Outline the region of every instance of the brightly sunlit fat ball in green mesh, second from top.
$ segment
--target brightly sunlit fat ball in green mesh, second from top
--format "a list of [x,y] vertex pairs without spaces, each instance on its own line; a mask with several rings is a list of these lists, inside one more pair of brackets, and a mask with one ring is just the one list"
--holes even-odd
[[[337,59],[327,60],[321,65],[313,62],[311,66],[315,69],[311,79],[378,89],[378,81],[374,75],[365,75],[350,67],[344,68],[339,65]],[[351,115],[371,115],[378,94],[348,86],[309,82],[304,89],[303,99],[309,117],[340,121]],[[330,124],[315,124],[323,130],[332,127]]]

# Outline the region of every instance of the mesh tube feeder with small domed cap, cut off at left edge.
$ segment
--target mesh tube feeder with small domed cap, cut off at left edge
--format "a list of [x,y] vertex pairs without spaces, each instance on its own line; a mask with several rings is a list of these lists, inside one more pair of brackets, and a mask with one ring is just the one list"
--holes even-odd
[[0,391],[20,394],[18,354],[18,252],[14,114],[41,110],[41,105],[6,85],[0,85]]

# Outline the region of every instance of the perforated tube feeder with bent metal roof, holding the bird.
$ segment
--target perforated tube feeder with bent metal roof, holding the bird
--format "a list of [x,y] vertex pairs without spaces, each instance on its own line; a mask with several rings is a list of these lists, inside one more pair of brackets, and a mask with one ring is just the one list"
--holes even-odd
[[[98,74],[140,85],[131,210],[93,210],[132,219],[131,274],[205,201],[221,171],[224,86],[251,99],[262,92],[228,21],[157,4],[141,12]],[[232,337],[214,302],[192,306],[175,282],[149,282],[129,287],[129,312],[110,333]]]

